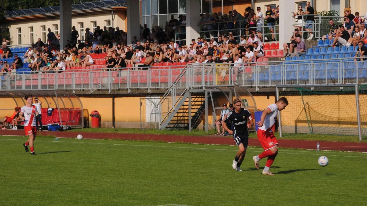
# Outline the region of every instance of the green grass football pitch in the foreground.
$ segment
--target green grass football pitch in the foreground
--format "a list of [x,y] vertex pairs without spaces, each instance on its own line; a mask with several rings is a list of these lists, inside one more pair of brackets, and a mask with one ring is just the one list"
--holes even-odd
[[[0,136],[0,205],[363,205],[367,154],[280,148],[264,176],[249,147]],[[325,155],[329,165],[317,159]],[[265,160],[260,162],[264,167]]]

